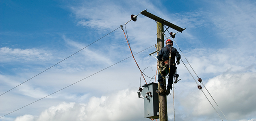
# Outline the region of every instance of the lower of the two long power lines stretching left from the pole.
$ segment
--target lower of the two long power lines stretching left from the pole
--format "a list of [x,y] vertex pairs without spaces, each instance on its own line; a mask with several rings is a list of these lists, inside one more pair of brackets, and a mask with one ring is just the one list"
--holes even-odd
[[[154,46],[154,45],[152,45],[152,46]],[[150,47],[148,47],[148,48],[151,48],[152,46],[150,46]],[[148,48],[146,48],[146,49],[144,49],[144,50],[147,50]],[[143,52],[144,50],[141,50],[140,52]],[[139,54],[140,52],[137,52],[136,54]],[[134,55],[136,55],[136,54],[134,54]],[[123,59],[123,60],[121,60],[121,61],[119,61],[119,62],[117,62],[117,63],[115,63],[115,64],[113,64],[113,65],[111,65],[111,66],[109,66],[109,67],[106,67],[105,69],[102,69],[102,70],[100,70],[100,71],[98,71],[98,72],[96,72],[96,73],[93,73],[92,75],[89,75],[88,77],[85,77],[85,78],[83,78],[83,79],[81,79],[81,80],[79,80],[79,81],[76,81],[75,83],[72,83],[71,85],[66,86],[65,88],[68,88],[68,87],[70,87],[70,86],[72,86],[72,85],[74,85],[74,84],[76,84],[76,83],[78,83],[78,82],[80,82],[80,81],[82,81],[82,80],[85,80],[85,79],[87,79],[87,78],[89,78],[89,77],[91,77],[91,76],[93,76],[93,75],[95,75],[95,74],[97,74],[97,73],[100,73],[101,71],[104,71],[104,70],[106,70],[106,69],[108,69],[108,68],[110,68],[110,67],[112,67],[112,66],[114,66],[114,65],[116,65],[116,64],[118,64],[118,63],[120,63],[120,62],[122,62],[122,61],[124,61],[124,60],[126,60],[126,59],[128,59],[128,58],[130,58],[130,57],[132,57],[132,56],[129,56],[129,57],[127,57],[127,58],[125,58],[125,59]],[[61,90],[64,90],[65,88],[62,88]],[[58,91],[56,91],[56,92],[53,92],[52,94],[55,94],[55,93],[57,93],[57,92],[59,92],[59,91],[61,91],[61,90],[58,90]],[[50,95],[52,95],[52,94],[49,94],[48,96],[50,96]],[[43,97],[43,98],[46,98],[46,97],[48,97],[48,96],[45,96],[45,97]],[[43,98],[40,98],[39,100],[42,100]],[[39,100],[36,100],[36,101],[34,101],[34,102],[31,102],[30,104],[33,104],[33,103],[35,103],[35,102],[37,102],[37,101],[39,101]],[[28,106],[28,105],[30,105],[30,104],[27,104],[27,105],[25,105],[25,106],[23,106],[23,107],[21,107],[21,108],[18,108],[18,109],[15,110],[15,111],[18,111],[18,110],[20,110],[20,109],[22,109],[22,108],[24,108],[24,107],[26,107],[26,106]],[[13,113],[13,112],[15,112],[15,111],[12,111],[12,112],[10,112],[10,113],[7,113],[6,115],[9,115],[9,114],[11,114],[11,113]],[[4,116],[6,116],[6,115],[1,116],[0,118],[4,117]]]

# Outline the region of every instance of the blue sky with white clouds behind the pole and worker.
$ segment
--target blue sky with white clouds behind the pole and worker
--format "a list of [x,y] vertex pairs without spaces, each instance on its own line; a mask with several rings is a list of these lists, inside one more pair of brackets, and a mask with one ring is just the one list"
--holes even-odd
[[[186,28],[175,41],[226,118],[256,121],[254,0],[0,0],[0,121],[151,121],[137,97],[145,81],[119,28],[145,9]],[[124,27],[149,77],[156,26],[139,15]],[[175,119],[227,121],[195,73],[177,67]],[[172,93],[167,106],[172,121]]]

